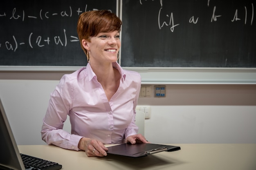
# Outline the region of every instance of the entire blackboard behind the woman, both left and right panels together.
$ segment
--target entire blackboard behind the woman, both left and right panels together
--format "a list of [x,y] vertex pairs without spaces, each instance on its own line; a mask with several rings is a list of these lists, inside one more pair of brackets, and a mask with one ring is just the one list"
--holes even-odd
[[4,0],[0,66],[85,66],[76,22],[121,9],[121,66],[256,68],[253,0]]

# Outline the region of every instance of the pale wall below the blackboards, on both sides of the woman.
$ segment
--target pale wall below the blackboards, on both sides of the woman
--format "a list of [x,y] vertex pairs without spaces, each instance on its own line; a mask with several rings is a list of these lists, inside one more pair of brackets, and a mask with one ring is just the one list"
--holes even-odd
[[[18,145],[45,144],[40,129],[49,94],[65,73],[0,72],[0,97]],[[152,143],[256,143],[256,85],[169,84],[166,98],[138,104],[151,108],[145,136]]]

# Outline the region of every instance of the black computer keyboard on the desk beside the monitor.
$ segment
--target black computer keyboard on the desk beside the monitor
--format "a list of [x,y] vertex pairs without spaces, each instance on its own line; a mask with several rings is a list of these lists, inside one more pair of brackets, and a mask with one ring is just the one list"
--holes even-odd
[[31,157],[29,155],[20,154],[26,170],[60,170],[62,165],[40,159],[37,157]]

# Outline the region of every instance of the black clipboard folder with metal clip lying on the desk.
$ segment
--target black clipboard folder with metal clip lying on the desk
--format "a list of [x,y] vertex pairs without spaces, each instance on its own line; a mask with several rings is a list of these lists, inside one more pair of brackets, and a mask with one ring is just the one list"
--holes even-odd
[[120,144],[116,146],[108,147],[108,154],[113,155],[121,155],[126,157],[145,157],[150,154],[154,154],[157,152],[167,151],[172,152],[180,150],[180,146],[171,146],[171,145],[161,145],[161,144],[144,144],[144,143],[137,143],[137,144]]

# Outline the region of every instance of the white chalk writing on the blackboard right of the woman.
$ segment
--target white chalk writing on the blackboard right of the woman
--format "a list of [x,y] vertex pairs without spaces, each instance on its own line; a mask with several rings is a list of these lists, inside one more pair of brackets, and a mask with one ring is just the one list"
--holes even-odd
[[[149,0],[139,0],[139,3],[141,5],[143,5],[144,3],[148,3],[146,1]],[[154,0],[151,0],[154,1]],[[210,0],[205,1],[207,2],[207,7],[210,6]],[[180,24],[178,22],[176,22],[174,20],[175,16],[173,14],[173,12],[170,12],[169,14],[162,14],[162,10],[164,8],[164,4],[163,4],[163,0],[159,0],[159,4],[160,4],[160,8],[159,8],[159,12],[158,12],[158,27],[159,29],[162,29],[164,26],[170,26],[170,31],[174,32],[174,29],[176,26],[179,26]],[[250,16],[248,15],[248,8],[250,8]],[[239,13],[244,13],[244,18],[241,18],[239,16]],[[211,15],[211,20],[210,22],[216,22],[218,20],[218,18],[222,17],[221,12],[218,11],[218,7],[214,6],[212,9],[212,15]],[[164,19],[163,19],[164,18]],[[166,19],[167,18],[167,19]],[[234,15],[232,18],[230,18],[231,22],[237,22],[240,20],[244,20],[244,24],[248,24],[248,20],[249,20],[249,24],[252,25],[253,24],[253,20],[254,20],[254,4],[251,3],[249,5],[249,7],[244,6],[243,7],[243,11],[239,11],[238,9],[236,9],[234,11]],[[192,23],[192,24],[197,24],[200,21],[200,18],[197,16],[192,15],[190,18],[188,18],[188,22]]]

